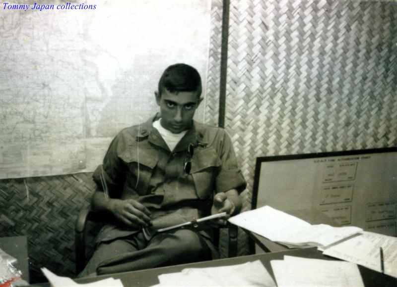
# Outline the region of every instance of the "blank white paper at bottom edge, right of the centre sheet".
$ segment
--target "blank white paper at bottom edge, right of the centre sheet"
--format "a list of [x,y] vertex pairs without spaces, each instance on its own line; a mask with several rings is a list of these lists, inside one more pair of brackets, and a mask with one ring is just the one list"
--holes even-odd
[[278,286],[364,286],[357,265],[350,262],[284,256],[270,264]]

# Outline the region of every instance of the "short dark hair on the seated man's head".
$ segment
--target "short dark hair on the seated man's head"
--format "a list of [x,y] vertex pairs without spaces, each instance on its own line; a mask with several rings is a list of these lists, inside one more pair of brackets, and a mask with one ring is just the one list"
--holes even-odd
[[178,92],[197,92],[197,97],[201,95],[201,77],[199,72],[187,64],[174,64],[165,69],[158,82],[158,93],[167,89],[170,93]]

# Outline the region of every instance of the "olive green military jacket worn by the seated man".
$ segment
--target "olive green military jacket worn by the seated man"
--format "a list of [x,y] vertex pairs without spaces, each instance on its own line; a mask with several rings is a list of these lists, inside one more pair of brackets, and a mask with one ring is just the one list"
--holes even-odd
[[[194,121],[192,128],[170,150],[153,127],[158,115],[146,123],[123,129],[112,141],[103,165],[93,179],[111,198],[135,199],[152,214],[153,227],[164,228],[210,214],[213,195],[246,187],[231,140],[225,130]],[[194,146],[190,158],[187,150]],[[186,174],[184,165],[191,161]],[[105,226],[97,241],[136,233],[122,224]]]

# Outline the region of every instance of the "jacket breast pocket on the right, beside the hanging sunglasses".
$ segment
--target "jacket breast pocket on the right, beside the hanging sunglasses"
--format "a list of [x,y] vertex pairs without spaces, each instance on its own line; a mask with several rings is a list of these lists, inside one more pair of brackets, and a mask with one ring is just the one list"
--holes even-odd
[[214,148],[201,149],[194,154],[191,174],[200,199],[207,199],[212,195],[220,165],[221,161]]

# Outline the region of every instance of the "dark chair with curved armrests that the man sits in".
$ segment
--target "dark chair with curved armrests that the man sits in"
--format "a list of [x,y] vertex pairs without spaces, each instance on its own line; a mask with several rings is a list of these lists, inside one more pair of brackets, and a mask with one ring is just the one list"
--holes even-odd
[[[79,274],[86,264],[86,234],[88,222],[97,224],[104,224],[109,222],[109,214],[104,212],[95,212],[88,208],[82,208],[78,214],[75,224],[75,260],[76,260],[76,274]],[[237,256],[237,226],[228,224],[225,228],[228,232],[228,250],[227,257]],[[219,230],[220,231],[220,230]],[[214,232],[214,243],[219,247],[219,233]]]

